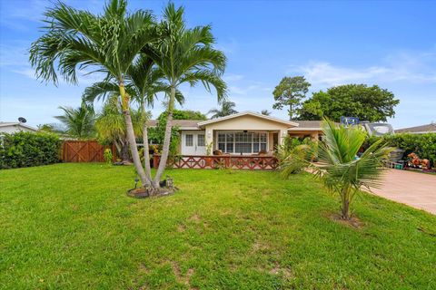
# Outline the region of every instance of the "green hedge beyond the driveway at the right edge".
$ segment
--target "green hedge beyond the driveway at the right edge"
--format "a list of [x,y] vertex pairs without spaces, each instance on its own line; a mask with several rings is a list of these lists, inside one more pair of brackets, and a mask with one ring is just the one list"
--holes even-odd
[[[371,144],[379,138],[370,137],[368,142]],[[404,160],[407,159],[408,154],[414,152],[421,159],[430,160],[432,166],[436,167],[436,133],[401,133],[385,135],[381,138],[385,140],[389,146],[404,150]]]

